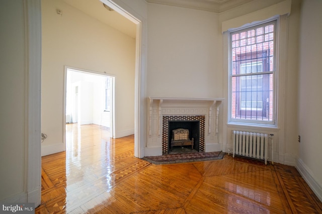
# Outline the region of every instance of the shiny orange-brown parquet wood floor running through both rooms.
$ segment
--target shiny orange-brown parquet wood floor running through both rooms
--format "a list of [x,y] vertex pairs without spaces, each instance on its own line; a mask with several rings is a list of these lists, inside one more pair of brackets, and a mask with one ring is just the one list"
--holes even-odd
[[36,213],[322,213],[294,167],[225,155],[155,165],[134,138],[97,125],[66,126],[66,152],[42,157]]

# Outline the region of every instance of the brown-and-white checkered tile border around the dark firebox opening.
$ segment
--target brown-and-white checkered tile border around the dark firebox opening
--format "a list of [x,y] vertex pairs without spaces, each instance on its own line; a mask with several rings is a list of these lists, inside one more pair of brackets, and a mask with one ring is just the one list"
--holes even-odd
[[171,115],[163,116],[162,122],[162,153],[169,153],[169,124],[171,121],[199,121],[199,142],[198,151],[204,151],[205,149],[205,116],[204,115]]

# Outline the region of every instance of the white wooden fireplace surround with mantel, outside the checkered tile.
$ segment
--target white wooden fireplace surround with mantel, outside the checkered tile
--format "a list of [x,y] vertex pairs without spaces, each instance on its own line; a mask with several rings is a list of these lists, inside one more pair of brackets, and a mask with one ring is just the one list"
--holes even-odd
[[219,107],[223,98],[149,97],[144,156],[162,155],[163,116],[205,116],[205,151],[221,151]]

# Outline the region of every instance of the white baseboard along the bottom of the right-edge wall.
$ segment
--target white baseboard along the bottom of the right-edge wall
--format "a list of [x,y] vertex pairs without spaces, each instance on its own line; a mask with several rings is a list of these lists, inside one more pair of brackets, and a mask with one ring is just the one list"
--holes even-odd
[[297,159],[296,169],[302,175],[303,179],[316,194],[318,199],[322,201],[322,186],[316,182],[316,179],[313,177],[311,170],[305,165],[301,159]]

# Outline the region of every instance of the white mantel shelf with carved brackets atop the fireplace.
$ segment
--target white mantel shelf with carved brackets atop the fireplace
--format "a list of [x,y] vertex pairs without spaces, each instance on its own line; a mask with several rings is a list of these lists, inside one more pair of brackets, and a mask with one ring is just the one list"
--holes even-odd
[[[208,113],[211,115],[212,109],[216,108],[216,130],[215,133],[218,133],[218,114],[219,114],[219,106],[224,98],[185,98],[185,97],[149,97],[149,136],[152,135],[151,123],[152,123],[152,106],[157,105],[157,135],[160,136],[161,129],[162,129],[162,109],[165,106],[169,105],[177,105],[177,106],[184,106],[184,107],[197,107],[197,106],[207,106],[209,109]],[[208,117],[208,133],[211,132],[211,123],[210,117]]]

